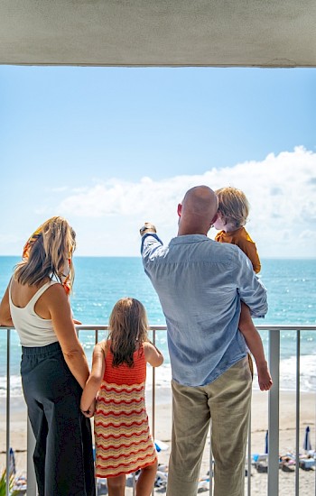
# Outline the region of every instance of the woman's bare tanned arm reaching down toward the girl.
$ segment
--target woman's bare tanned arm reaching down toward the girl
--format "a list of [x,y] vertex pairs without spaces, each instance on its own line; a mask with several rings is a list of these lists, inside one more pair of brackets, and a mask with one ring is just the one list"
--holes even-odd
[[53,284],[47,289],[42,295],[42,303],[49,310],[52,326],[70,372],[83,389],[88,380],[88,361],[73,324],[69,299],[61,284]]

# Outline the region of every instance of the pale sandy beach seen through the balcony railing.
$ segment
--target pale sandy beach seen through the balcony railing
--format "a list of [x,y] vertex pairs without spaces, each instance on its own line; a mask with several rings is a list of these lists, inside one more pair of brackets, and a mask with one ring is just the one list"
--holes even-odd
[[[154,437],[166,443],[169,449],[159,453],[159,463],[167,464],[171,446],[172,431],[172,401],[171,391],[164,388],[156,391],[155,429]],[[280,455],[293,453],[295,449],[295,396],[293,391],[281,391],[280,397]],[[147,400],[149,417],[152,419],[150,396]],[[263,454],[265,451],[265,432],[267,429],[268,395],[258,390],[253,391],[251,440],[252,454]],[[311,428],[311,445],[315,447],[315,395],[301,393],[301,429],[300,451],[302,450],[305,427]],[[5,399],[0,400],[0,469],[5,468]],[[11,399],[10,445],[14,448],[17,475],[26,472],[26,409],[23,398]],[[204,451],[200,477],[206,476],[209,470],[209,437]],[[308,496],[315,494],[315,470],[300,469],[300,494]],[[279,494],[291,496],[295,493],[295,473],[285,473],[280,470]],[[247,485],[247,477],[245,478]],[[162,494],[162,489],[155,490]],[[126,488],[126,495],[132,494],[132,489]],[[258,473],[256,468],[251,473],[251,494],[267,494],[267,475]],[[181,495],[179,495],[181,496]]]

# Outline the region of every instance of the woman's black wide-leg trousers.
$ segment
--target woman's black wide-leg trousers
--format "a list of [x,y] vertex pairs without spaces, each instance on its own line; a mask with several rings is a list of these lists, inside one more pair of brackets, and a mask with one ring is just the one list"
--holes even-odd
[[39,496],[95,496],[90,420],[80,412],[82,390],[60,344],[23,346],[21,375]]

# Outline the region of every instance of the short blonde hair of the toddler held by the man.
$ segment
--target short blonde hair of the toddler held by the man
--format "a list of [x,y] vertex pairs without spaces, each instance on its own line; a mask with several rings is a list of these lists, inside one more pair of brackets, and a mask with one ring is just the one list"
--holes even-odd
[[236,227],[246,224],[249,215],[249,202],[243,191],[228,186],[215,191],[218,197],[218,212],[225,219],[225,224],[232,223]]

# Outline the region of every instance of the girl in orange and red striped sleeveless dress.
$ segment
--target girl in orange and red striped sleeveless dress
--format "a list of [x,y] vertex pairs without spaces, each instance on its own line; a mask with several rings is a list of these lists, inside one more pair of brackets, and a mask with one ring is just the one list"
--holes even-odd
[[149,496],[157,454],[144,403],[146,363],[158,367],[163,355],[148,341],[146,312],[137,299],[116,302],[109,328],[108,339],[94,348],[80,404],[87,417],[95,410],[96,476],[107,478],[109,496],[124,496],[126,473],[141,470],[136,495]]

